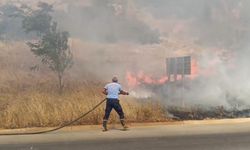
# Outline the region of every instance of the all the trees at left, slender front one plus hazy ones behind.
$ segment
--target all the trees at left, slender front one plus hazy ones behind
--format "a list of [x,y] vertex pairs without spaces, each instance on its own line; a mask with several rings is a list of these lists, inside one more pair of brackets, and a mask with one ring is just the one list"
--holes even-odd
[[[53,19],[53,5],[39,2],[34,9],[25,4],[15,6],[11,4],[0,8],[0,35],[2,39],[8,25],[14,23],[15,28],[21,27],[23,37],[33,37],[27,42],[31,52],[41,62],[47,65],[58,78],[58,91],[62,93],[65,71],[73,65],[72,51],[68,45],[70,34],[60,30],[58,23]],[[19,31],[21,33],[21,31]],[[35,40],[34,40],[35,39]],[[37,67],[31,67],[35,69]]]

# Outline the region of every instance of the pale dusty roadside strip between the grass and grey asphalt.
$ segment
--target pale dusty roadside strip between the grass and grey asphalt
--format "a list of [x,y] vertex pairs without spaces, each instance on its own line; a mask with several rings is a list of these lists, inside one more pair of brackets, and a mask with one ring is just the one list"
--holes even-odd
[[[184,122],[134,123],[129,131],[121,131],[117,124],[109,125],[109,132],[102,132],[101,126],[74,126],[60,131],[25,136],[0,136],[0,144],[32,144],[70,141],[93,141],[132,139],[147,137],[172,137],[209,134],[250,133],[250,119],[224,119]],[[1,130],[1,133],[27,132],[48,128]]]

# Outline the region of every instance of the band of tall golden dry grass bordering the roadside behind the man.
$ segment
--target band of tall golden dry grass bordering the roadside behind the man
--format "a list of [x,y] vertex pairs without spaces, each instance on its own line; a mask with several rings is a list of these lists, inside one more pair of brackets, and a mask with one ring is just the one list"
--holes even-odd
[[[86,86],[86,85],[85,85]],[[100,88],[101,89],[101,88]],[[19,94],[1,94],[0,128],[24,128],[59,126],[69,122],[91,109],[104,97],[97,87],[67,91],[63,95],[56,92],[25,91]],[[129,122],[163,121],[164,108],[158,102],[139,102],[122,98],[126,118]],[[104,115],[103,104],[77,125],[100,124]],[[110,122],[117,122],[113,111]]]

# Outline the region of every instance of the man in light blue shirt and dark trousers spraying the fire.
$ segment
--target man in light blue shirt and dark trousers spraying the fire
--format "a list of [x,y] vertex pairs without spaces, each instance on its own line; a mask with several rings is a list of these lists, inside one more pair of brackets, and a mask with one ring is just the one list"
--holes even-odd
[[120,117],[123,129],[127,129],[124,120],[124,113],[119,103],[119,94],[129,95],[129,93],[122,90],[121,85],[118,83],[117,77],[113,77],[112,82],[104,87],[103,94],[107,95],[105,115],[103,117],[103,131],[108,131],[107,122],[109,119],[110,112],[113,108]]

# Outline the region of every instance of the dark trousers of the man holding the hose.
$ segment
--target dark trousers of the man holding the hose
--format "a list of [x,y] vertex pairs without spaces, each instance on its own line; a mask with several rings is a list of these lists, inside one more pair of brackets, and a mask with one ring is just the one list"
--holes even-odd
[[107,99],[104,121],[108,121],[112,109],[115,109],[120,117],[120,120],[124,120],[124,113],[118,99]]

